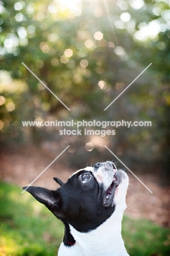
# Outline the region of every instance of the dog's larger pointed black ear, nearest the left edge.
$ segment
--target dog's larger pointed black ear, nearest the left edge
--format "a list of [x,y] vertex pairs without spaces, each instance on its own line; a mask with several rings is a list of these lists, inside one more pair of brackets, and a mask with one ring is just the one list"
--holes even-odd
[[[23,187],[25,190],[27,187]],[[49,190],[40,187],[28,187],[27,192],[29,192],[37,201],[43,203],[56,217],[61,218],[61,197],[57,190]]]

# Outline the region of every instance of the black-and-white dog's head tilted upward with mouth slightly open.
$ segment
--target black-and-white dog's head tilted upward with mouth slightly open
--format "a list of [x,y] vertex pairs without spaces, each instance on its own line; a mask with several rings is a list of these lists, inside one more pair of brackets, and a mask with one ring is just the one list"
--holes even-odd
[[27,191],[63,223],[80,232],[96,229],[116,208],[125,210],[128,177],[113,162],[98,162],[94,167],[80,169],[66,183],[54,179],[61,185],[57,190],[28,187]]

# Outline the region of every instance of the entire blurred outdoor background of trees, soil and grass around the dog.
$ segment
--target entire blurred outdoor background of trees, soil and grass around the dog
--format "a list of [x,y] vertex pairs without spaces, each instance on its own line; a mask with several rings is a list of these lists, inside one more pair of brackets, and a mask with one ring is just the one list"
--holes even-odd
[[[68,145],[34,185],[55,189],[52,177],[67,181],[73,171],[99,161],[124,168],[106,145],[153,191],[127,171],[128,252],[170,255],[169,1],[11,0],[0,2],[0,14],[0,254],[56,254],[61,223],[28,193],[21,195],[21,187]],[[108,127],[115,135],[105,137],[22,126],[22,121],[72,119],[151,121],[152,126]]]

